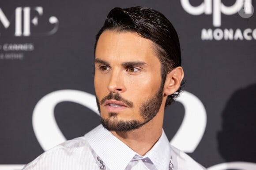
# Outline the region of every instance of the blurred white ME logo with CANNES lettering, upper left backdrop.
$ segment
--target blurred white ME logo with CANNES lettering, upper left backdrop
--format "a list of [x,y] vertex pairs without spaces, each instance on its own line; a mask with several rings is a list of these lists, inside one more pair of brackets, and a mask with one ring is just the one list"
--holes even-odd
[[[47,22],[43,18],[45,18],[43,7],[16,7],[11,16],[7,16],[4,9],[0,7],[0,38],[3,36],[13,37],[12,43],[1,42],[0,60],[21,60],[24,58],[25,52],[34,51],[34,43],[16,43],[15,37],[50,36],[56,33],[59,27],[58,18],[50,16],[47,18]],[[44,26],[51,25],[51,28],[33,32],[33,29],[39,27],[38,23],[44,24]]]

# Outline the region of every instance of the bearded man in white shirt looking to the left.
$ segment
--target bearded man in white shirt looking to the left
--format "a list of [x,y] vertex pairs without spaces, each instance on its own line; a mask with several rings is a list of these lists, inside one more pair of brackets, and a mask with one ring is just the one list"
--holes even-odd
[[95,43],[102,125],[24,170],[205,170],[170,146],[162,130],[164,109],[179,95],[182,79],[179,40],[168,19],[146,7],[114,8]]

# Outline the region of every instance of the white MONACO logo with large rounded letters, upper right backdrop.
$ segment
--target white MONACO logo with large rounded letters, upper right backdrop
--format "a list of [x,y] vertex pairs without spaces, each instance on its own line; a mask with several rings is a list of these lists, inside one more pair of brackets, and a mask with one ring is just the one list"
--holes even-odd
[[222,26],[222,15],[239,14],[241,19],[250,18],[254,13],[252,0],[236,0],[231,6],[225,6],[222,0],[202,0],[199,6],[181,0],[181,6],[192,15],[212,15],[213,28],[203,28],[201,40],[256,40],[256,28],[215,28]]

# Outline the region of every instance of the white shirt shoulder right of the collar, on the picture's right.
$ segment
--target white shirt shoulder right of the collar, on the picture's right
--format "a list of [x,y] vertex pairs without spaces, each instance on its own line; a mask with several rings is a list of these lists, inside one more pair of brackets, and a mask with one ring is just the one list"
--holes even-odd
[[[197,163],[194,159],[182,152],[178,148],[171,145],[171,155],[173,159],[173,166],[178,170],[206,170],[202,165]],[[176,165],[175,165],[176,164]]]

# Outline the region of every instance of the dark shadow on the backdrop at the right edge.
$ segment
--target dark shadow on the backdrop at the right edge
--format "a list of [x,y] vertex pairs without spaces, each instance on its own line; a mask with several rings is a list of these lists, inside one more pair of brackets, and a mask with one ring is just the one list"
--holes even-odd
[[217,138],[218,150],[227,162],[256,162],[256,84],[232,94]]

